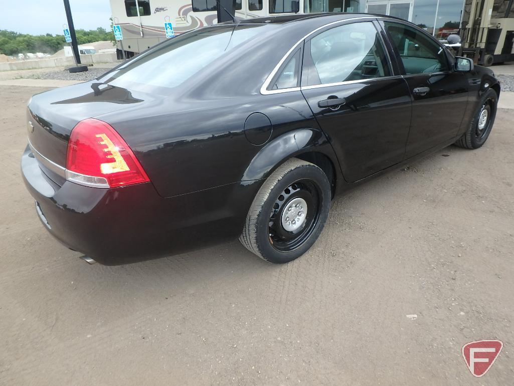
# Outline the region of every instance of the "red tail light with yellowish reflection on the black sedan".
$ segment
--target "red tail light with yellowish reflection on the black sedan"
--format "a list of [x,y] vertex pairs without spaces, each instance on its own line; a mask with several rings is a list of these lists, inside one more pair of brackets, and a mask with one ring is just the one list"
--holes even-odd
[[89,118],[71,131],[67,178],[89,186],[116,187],[150,179],[123,138],[111,125]]

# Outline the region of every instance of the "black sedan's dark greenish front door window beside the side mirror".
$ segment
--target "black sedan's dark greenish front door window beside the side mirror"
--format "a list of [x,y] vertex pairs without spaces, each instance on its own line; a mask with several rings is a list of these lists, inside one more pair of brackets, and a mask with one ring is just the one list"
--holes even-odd
[[425,33],[403,24],[385,24],[393,44],[398,48],[406,74],[448,71],[446,51]]

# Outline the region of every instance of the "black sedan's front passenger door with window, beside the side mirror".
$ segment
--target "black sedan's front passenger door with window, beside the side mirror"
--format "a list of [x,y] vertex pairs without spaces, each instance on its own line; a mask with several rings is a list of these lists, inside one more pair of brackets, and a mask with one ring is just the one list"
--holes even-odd
[[446,49],[426,32],[396,21],[382,25],[412,94],[406,158],[449,144],[467,107],[466,75],[453,71]]

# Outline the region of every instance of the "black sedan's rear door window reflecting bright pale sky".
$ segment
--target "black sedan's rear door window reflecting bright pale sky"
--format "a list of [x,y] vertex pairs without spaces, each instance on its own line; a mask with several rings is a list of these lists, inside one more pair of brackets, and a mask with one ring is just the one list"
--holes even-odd
[[339,83],[390,76],[373,23],[335,27],[311,39],[305,48],[302,85]]

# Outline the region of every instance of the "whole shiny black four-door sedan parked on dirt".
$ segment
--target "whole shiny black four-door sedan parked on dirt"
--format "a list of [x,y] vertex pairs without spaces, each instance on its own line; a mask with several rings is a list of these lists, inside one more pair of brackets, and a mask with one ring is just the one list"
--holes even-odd
[[499,94],[490,69],[393,17],[223,23],[33,96],[23,178],[48,231],[102,264],[237,237],[282,263],[346,189],[481,147]]

